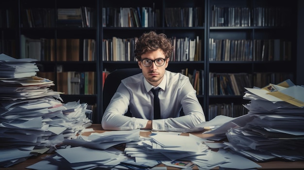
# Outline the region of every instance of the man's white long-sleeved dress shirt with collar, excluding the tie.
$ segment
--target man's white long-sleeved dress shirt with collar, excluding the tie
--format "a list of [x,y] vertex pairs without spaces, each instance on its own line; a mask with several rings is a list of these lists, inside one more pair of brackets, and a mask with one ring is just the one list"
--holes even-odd
[[[180,73],[165,71],[158,85],[161,119],[153,120],[152,86],[142,73],[121,80],[117,92],[106,108],[101,125],[106,130],[144,128],[152,120],[152,130],[196,131],[195,125],[205,121],[203,108],[189,78]],[[128,107],[132,117],[124,116]],[[180,116],[183,108],[185,116]]]

